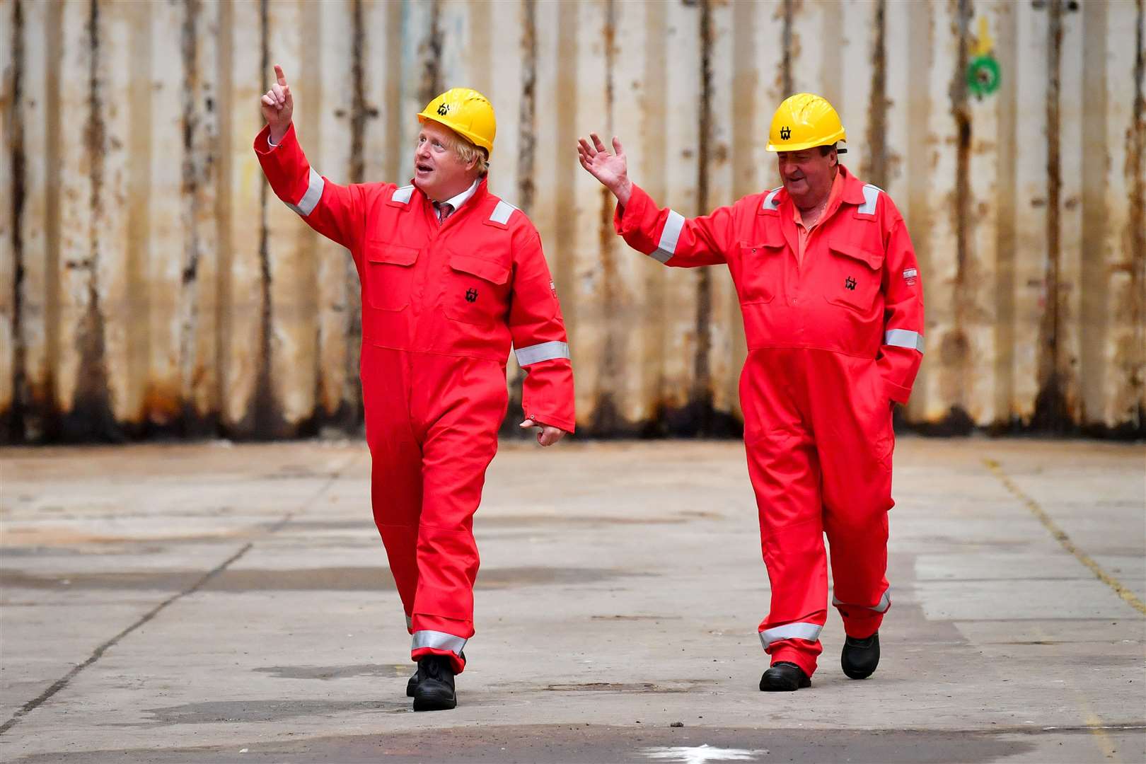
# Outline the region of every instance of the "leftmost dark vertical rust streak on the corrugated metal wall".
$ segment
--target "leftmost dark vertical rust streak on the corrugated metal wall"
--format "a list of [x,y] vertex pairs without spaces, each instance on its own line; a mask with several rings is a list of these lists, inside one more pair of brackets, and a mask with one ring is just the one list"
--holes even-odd
[[14,259],[14,274],[11,283],[11,349],[13,349],[13,386],[11,400],[8,402],[8,410],[0,411],[0,442],[15,442],[23,440],[24,434],[24,404],[28,400],[28,376],[25,371],[24,329],[22,316],[24,312],[24,241],[19,227],[19,220],[24,212],[24,123],[19,118],[19,109],[23,103],[23,73],[24,73],[24,13],[23,0],[16,0],[13,7],[11,25],[11,99],[6,104],[6,110],[11,118],[10,151],[11,151],[11,251]]

